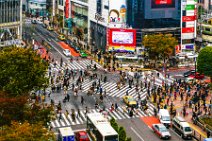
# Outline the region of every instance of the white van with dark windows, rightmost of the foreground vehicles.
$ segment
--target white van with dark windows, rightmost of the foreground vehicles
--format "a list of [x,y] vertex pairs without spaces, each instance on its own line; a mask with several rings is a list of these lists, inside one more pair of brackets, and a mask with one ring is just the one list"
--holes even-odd
[[192,138],[192,129],[182,117],[174,117],[172,127],[180,134],[182,138]]

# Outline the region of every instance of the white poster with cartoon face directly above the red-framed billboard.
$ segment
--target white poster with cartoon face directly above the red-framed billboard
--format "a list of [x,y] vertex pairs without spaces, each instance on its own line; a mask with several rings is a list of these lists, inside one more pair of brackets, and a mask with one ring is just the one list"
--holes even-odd
[[109,17],[108,23],[121,24],[126,22],[126,0],[110,0],[109,1]]

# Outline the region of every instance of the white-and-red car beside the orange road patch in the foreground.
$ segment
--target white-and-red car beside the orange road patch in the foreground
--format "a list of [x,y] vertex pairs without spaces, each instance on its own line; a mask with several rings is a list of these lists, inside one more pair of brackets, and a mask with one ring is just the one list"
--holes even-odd
[[159,124],[152,124],[152,130],[161,138],[161,139],[170,139],[171,134],[167,128],[159,123]]

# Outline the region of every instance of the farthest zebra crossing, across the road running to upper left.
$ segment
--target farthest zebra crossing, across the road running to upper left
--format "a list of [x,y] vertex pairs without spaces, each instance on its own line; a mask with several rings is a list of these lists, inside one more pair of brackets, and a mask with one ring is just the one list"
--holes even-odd
[[71,69],[71,70],[85,70],[87,69],[88,66],[92,66],[96,64],[96,67],[97,68],[102,68],[101,65],[99,65],[97,62],[95,61],[92,61],[92,64],[91,64],[91,60],[89,59],[82,59],[82,60],[73,60],[72,62],[69,62],[69,63],[64,63],[62,64],[62,67],[60,67],[60,64],[59,63],[56,63],[56,66],[54,66],[54,64],[50,64],[50,66],[54,69],[54,71],[59,71],[59,70],[65,70],[65,69]]

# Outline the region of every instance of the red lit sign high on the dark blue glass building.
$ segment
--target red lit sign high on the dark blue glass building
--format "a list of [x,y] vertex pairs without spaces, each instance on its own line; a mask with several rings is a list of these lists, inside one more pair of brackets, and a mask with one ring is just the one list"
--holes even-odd
[[175,0],[152,0],[152,8],[175,8]]

